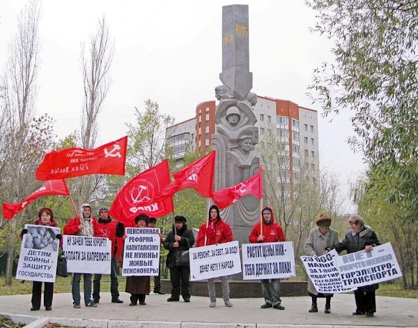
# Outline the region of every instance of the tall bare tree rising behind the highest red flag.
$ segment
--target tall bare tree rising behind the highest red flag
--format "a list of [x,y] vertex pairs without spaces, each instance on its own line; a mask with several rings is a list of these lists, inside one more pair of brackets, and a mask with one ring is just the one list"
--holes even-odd
[[[109,70],[114,58],[114,42],[109,37],[109,26],[104,15],[98,22],[98,28],[91,34],[87,46],[82,44],[81,61],[84,87],[81,134],[82,147],[91,149],[95,146],[98,135],[98,114],[111,85]],[[91,195],[105,183],[100,175],[79,179],[77,200],[91,200]]]

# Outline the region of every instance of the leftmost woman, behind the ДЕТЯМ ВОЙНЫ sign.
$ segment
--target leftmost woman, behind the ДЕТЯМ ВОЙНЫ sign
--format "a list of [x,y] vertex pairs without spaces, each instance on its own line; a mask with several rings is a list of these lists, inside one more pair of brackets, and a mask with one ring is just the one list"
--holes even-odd
[[[36,225],[45,225],[49,227],[58,227],[58,223],[54,219],[54,214],[52,210],[48,207],[43,207],[39,210],[38,218],[35,219],[33,224]],[[26,229],[22,230],[22,235],[26,234],[28,231]],[[61,234],[56,234],[56,239],[61,239]],[[54,283],[44,283],[44,306],[46,311],[52,310],[52,297],[54,295]],[[32,282],[32,307],[31,311],[38,311],[40,309],[40,296],[42,294],[42,281],[33,281]]]

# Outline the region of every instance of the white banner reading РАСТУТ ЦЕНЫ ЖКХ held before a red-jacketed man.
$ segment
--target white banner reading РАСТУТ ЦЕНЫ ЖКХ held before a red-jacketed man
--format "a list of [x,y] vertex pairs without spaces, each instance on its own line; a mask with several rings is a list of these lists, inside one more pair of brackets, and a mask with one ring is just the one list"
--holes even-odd
[[242,244],[242,279],[277,279],[296,276],[292,241]]

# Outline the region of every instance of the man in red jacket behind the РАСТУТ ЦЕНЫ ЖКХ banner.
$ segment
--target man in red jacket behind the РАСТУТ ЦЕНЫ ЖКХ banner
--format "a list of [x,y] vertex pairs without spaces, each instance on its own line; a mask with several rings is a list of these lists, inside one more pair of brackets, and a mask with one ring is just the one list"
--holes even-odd
[[[274,222],[274,214],[271,207],[264,207],[261,211],[263,215],[263,232],[261,232],[261,222],[256,223],[249,234],[250,243],[273,243],[286,241],[283,229],[279,223]],[[265,303],[261,308],[277,308],[284,310],[280,299],[280,279],[261,279],[263,297]]]

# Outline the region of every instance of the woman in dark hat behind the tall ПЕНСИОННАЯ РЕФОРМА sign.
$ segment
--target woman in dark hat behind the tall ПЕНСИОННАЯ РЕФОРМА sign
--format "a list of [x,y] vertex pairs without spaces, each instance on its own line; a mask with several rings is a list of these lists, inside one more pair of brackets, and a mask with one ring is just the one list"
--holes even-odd
[[[146,214],[139,214],[135,217],[137,228],[146,228],[149,217]],[[150,276],[128,276],[126,277],[125,292],[129,292],[130,306],[146,305],[145,296],[150,293]]]

